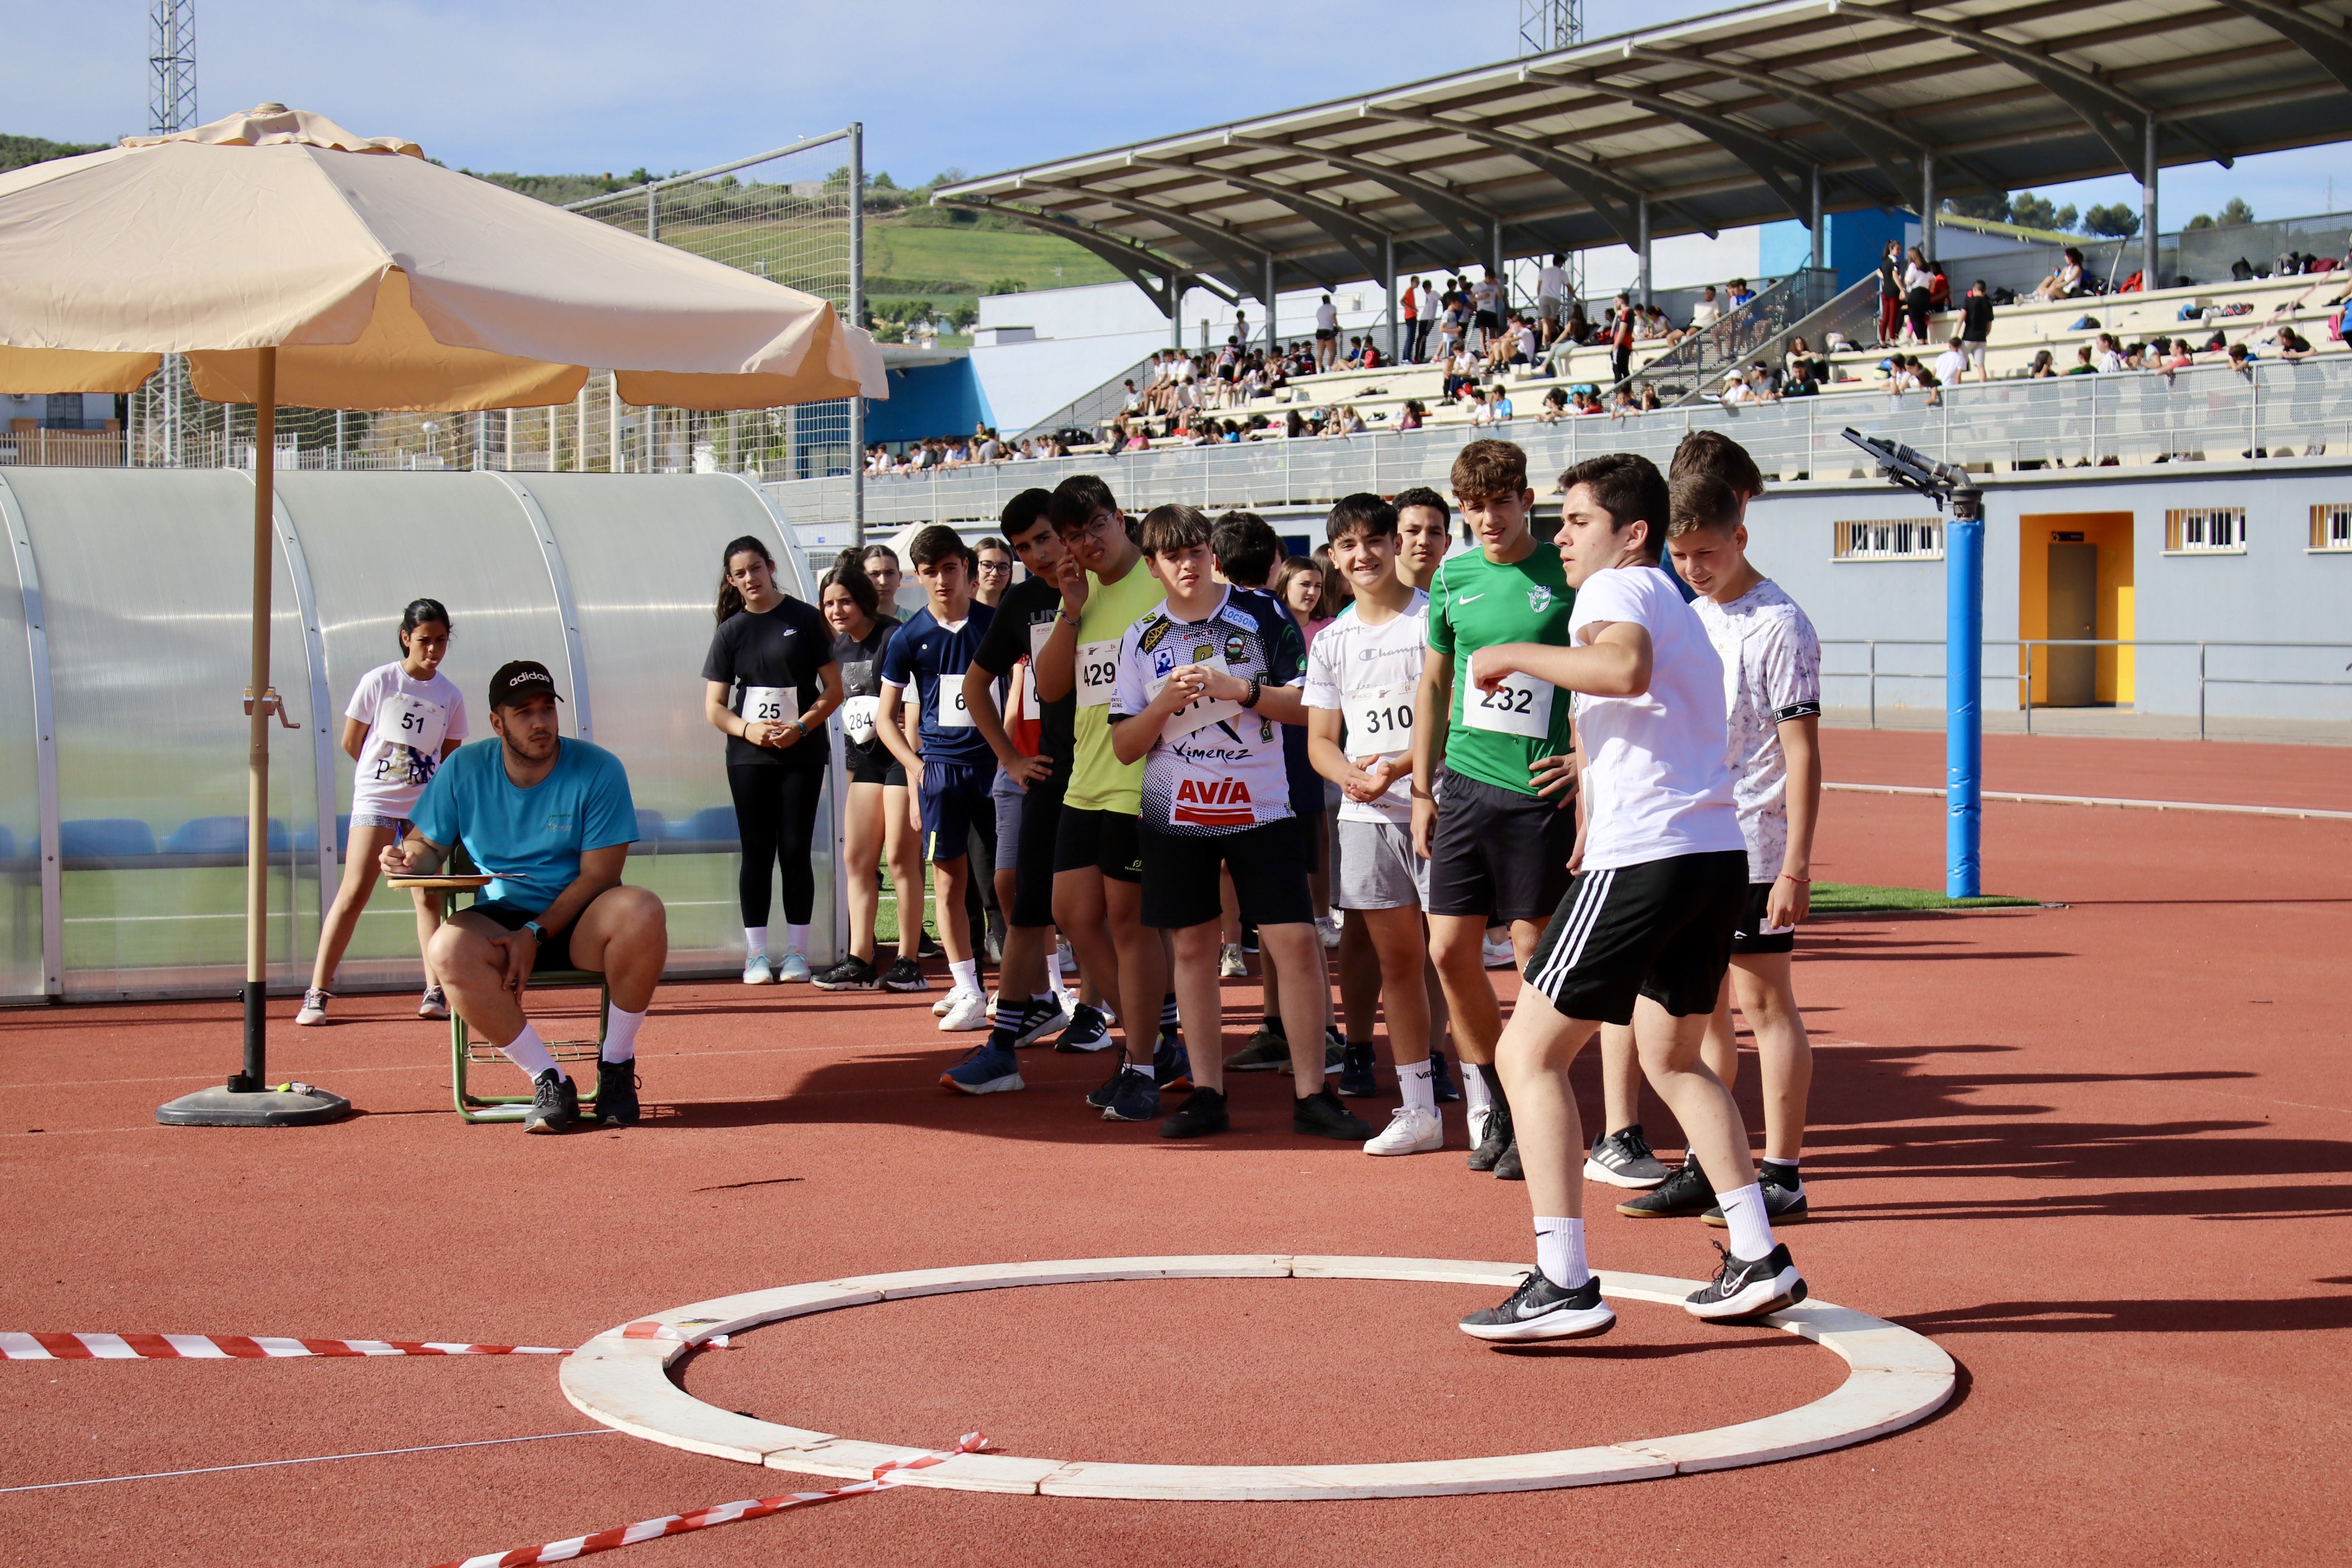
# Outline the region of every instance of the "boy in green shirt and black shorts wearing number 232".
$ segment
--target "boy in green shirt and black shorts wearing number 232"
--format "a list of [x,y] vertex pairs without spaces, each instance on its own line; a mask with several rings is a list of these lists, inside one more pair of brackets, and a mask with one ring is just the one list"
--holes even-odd
[[1576,592],[1559,555],[1529,531],[1536,491],[1519,447],[1463,447],[1454,498],[1479,548],[1449,555],[1428,583],[1430,654],[1414,701],[1414,851],[1430,863],[1430,957],[1463,1058],[1470,1168],[1517,1180],[1510,1103],[1494,1072],[1503,1011],[1479,943],[1486,917],[1501,914],[1524,964],[1566,893],[1576,851],[1571,701],[1529,677],[1479,691],[1456,679],[1456,665],[1503,642],[1564,646]]

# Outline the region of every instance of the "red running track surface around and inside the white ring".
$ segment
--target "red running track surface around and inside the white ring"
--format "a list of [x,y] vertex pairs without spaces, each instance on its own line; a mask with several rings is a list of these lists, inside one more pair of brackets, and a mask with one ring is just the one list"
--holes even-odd
[[[1917,745],[1832,731],[1830,773],[1931,780]],[[2319,797],[2333,752],[2317,748],[1992,752],[1994,788],[2150,795],[2126,776],[2145,766],[2178,799],[2343,799]],[[2291,769],[2314,797],[2279,797]],[[1940,844],[1938,802],[1842,795],[1818,875],[1931,886]],[[1990,804],[1985,844],[1987,886],[2067,907],[1825,922],[1799,947],[1820,1220],[1788,1239],[1820,1295],[1959,1359],[1962,1394],[1936,1420],[1790,1465],[1564,1493],[1148,1505],[901,1488],[612,1561],[2343,1561],[2352,823]],[[1225,994],[1237,1030],[1256,994]],[[280,1133],[153,1124],[235,1056],[228,1004],[0,1016],[0,1328],[569,1345],[851,1272],[1529,1251],[1524,1192],[1463,1171],[1458,1119],[1449,1154],[1374,1161],[1291,1138],[1277,1077],[1232,1081],[1232,1138],[1164,1145],[1084,1112],[1096,1058],[1033,1051],[1028,1093],[950,1100],[934,1077],[967,1037],[936,1034],[920,999],[708,985],[668,992],[647,1025],[656,1119],[550,1140],[461,1126],[445,1034],[405,1006],[278,1030],[275,1072],[367,1112]],[[1651,1128],[1672,1145],[1663,1114]],[[1700,1274],[1710,1234],[1602,1213],[1592,1253]],[[1788,1408],[1839,1375],[1795,1340],[1656,1307],[1585,1347],[1496,1354],[1451,1328],[1482,1300],[1374,1281],[950,1295],[743,1335],[687,1385],[922,1446],[981,1427],[1007,1453],[1277,1462],[1663,1434]],[[0,1486],[590,1425],[534,1359],[31,1361],[0,1366]],[[790,1483],[586,1436],[12,1493],[0,1530],[21,1563],[423,1566]]]

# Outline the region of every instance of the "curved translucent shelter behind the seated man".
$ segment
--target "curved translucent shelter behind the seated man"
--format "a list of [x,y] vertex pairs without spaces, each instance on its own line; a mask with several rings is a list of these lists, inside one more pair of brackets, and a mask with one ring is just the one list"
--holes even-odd
[[[223,994],[242,976],[249,475],[0,470],[0,999]],[[270,682],[270,985],[299,990],[334,898],[358,679],[402,607],[449,607],[442,672],[475,738],[492,670],[536,658],[564,733],[628,766],[628,882],[670,910],[673,973],[741,961],[724,743],[703,719],[720,550],[800,550],[731,475],[289,473],[278,477]],[[816,835],[830,950],[833,804]],[[814,957],[826,957],[818,952]],[[343,987],[419,978],[407,893],[379,884]]]

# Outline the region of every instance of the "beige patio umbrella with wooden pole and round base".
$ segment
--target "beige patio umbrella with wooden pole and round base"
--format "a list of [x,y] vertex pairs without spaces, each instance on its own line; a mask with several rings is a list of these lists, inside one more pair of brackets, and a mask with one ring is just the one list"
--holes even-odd
[[245,1065],[169,1121],[348,1110],[263,1093],[270,465],[275,409],[522,409],[588,369],[684,409],[887,397],[882,353],[826,301],[353,136],[282,103],[0,174],[0,393],[134,393],[188,357],[254,404]]

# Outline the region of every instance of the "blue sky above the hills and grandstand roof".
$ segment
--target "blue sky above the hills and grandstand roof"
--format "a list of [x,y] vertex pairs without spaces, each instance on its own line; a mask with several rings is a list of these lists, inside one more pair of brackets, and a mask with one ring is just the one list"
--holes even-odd
[[[1599,38],[1710,9],[1588,0],[1585,16]],[[863,35],[842,35],[844,19],[863,19]],[[917,183],[1508,59],[1517,19],[1519,0],[200,0],[198,75],[207,120],[282,99],[360,134],[412,136],[449,165],[527,174],[703,167],[856,118],[868,167]],[[0,132],[146,129],[139,0],[9,0],[0,35]],[[2164,228],[2232,195],[2263,216],[2324,212],[2340,165],[2310,148],[2234,172],[2169,169]],[[2336,183],[2352,207],[2352,169]],[[2049,195],[2138,205],[2126,176]]]

